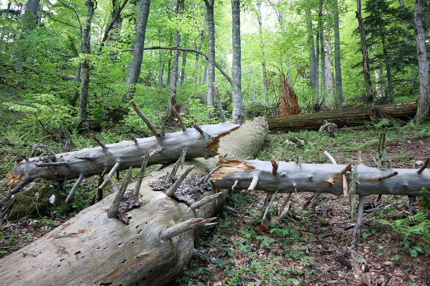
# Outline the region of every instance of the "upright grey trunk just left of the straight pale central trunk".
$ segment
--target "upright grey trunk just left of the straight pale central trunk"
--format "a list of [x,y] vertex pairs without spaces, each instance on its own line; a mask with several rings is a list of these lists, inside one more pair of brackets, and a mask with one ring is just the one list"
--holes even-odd
[[207,105],[214,105],[214,86],[215,82],[215,22],[214,22],[214,1],[205,0],[208,15],[208,93]]

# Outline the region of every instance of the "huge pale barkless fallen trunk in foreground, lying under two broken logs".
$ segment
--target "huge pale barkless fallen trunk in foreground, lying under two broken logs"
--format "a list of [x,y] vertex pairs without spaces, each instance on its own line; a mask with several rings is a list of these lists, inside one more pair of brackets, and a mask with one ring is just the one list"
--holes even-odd
[[[218,153],[228,157],[254,156],[264,144],[267,131],[265,118],[247,121],[219,140]],[[193,172],[207,173],[217,163],[218,158],[196,159],[185,161],[184,166],[193,165]],[[203,206],[189,207],[148,186],[173,167],[144,178],[139,196],[142,204],[130,211],[129,225],[108,218],[105,210],[115,194],[108,196],[1,259],[2,284],[164,285],[174,279],[190,262],[194,237],[207,222],[203,219],[215,215],[228,190],[206,191],[196,201],[222,193],[216,200],[206,199],[209,202]],[[129,186],[133,187],[134,184]]]

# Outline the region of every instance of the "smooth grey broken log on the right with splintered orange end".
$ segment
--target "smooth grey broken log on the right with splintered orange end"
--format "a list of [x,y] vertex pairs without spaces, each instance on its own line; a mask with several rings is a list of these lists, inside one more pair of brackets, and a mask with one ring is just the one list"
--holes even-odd
[[[267,193],[312,192],[341,196],[344,194],[343,174],[348,185],[351,181],[351,165],[276,163],[224,157],[219,159],[218,165],[222,167],[215,171],[211,181],[220,188],[231,187],[238,181],[237,189],[249,190],[251,182],[257,181],[253,190]],[[273,169],[273,162],[277,165],[276,170]],[[359,196],[374,194],[418,196],[423,187],[430,187],[430,169],[418,174],[417,169],[382,171],[364,165],[353,167],[358,171],[356,195]]]

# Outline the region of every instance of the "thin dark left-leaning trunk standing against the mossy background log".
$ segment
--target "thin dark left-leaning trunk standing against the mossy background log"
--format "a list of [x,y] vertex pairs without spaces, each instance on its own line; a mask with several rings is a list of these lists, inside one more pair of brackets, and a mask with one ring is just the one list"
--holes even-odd
[[357,0],[356,18],[358,19],[358,26],[360,29],[360,43],[361,43],[361,51],[363,54],[364,84],[366,87],[369,116],[373,122],[379,122],[381,120],[381,114],[379,113],[378,109],[375,108],[375,105],[373,103],[372,83],[370,82],[370,73],[369,73],[369,54],[367,52],[363,18],[361,16],[361,0]]

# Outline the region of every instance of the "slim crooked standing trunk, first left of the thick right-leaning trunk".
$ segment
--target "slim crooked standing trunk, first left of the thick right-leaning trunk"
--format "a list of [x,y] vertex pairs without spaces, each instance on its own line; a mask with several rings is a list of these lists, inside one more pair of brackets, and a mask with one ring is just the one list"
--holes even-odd
[[[91,30],[92,15],[94,14],[94,9],[97,8],[97,4],[96,6],[94,6],[94,3],[92,2],[92,0],[87,0],[85,2],[85,5],[88,7],[88,13],[86,16],[85,27],[82,33],[81,51],[83,54],[85,54],[85,57],[88,57],[88,55],[91,54],[90,30]],[[82,79],[80,84],[80,101],[79,101],[78,114],[76,118],[78,126],[80,126],[82,122],[86,120],[86,105],[88,103],[88,88],[89,88],[89,60],[87,58],[85,58],[81,63],[81,72],[82,72]]]

